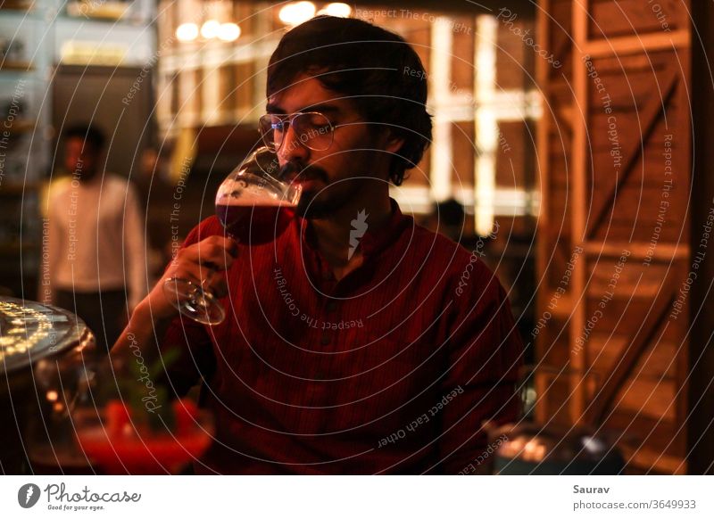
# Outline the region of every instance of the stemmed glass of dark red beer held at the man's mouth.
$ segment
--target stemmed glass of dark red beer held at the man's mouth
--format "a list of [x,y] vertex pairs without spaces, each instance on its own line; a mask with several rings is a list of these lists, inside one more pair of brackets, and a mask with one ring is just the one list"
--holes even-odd
[[[241,243],[268,243],[285,231],[295,216],[300,185],[279,180],[278,154],[263,146],[251,153],[223,180],[216,194],[216,216],[226,233]],[[226,310],[203,283],[170,277],[163,289],[179,311],[204,325],[218,325]]]

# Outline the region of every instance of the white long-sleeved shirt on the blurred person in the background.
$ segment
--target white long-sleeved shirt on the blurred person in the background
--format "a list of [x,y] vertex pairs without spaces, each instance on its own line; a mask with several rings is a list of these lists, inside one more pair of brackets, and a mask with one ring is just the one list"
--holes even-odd
[[[145,295],[144,215],[133,185],[105,173],[50,186],[48,266],[52,291],[128,292],[133,309]],[[54,298],[53,298],[54,299]]]

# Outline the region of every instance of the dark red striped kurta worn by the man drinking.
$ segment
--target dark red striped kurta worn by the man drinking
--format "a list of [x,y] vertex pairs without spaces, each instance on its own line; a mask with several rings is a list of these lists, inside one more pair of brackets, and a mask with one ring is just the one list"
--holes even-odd
[[[523,348],[501,285],[392,203],[339,282],[295,218],[274,243],[240,245],[223,324],[171,325],[162,348],[190,353],[171,382],[203,375],[216,414],[196,472],[455,474],[486,449],[482,421],[516,417]],[[209,235],[223,235],[215,217],[186,243]]]

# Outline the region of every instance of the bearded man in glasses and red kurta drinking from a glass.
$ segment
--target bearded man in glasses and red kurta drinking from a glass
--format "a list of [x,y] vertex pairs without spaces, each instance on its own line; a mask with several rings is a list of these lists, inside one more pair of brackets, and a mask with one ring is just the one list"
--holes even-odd
[[174,390],[203,379],[216,440],[197,472],[456,474],[487,448],[484,420],[516,417],[500,284],[389,198],[431,135],[424,78],[401,37],[357,20],[307,21],[272,55],[262,137],[300,216],[259,246],[204,220],[165,277],[206,280],[226,321],[177,318],[157,286],[116,346],[155,351],[155,326],[183,352]]

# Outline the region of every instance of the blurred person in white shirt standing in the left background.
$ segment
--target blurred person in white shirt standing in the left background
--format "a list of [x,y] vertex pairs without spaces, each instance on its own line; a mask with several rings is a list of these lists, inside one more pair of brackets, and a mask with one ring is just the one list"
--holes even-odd
[[144,216],[124,177],[104,172],[104,134],[64,133],[71,173],[50,186],[48,259],[52,304],[81,317],[99,350],[119,337],[146,292]]

